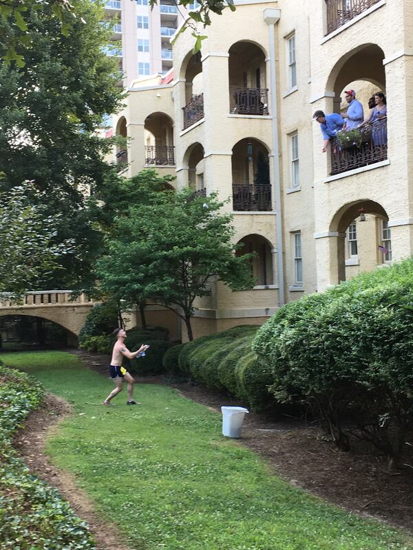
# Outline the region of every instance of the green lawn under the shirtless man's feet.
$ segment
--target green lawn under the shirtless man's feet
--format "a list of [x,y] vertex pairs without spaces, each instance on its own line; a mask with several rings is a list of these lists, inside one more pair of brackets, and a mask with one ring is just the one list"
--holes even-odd
[[221,435],[221,417],[176,391],[136,386],[101,405],[112,382],[68,353],[2,353],[73,404],[47,452],[74,474],[136,550],[413,550],[401,530],[291,487]]

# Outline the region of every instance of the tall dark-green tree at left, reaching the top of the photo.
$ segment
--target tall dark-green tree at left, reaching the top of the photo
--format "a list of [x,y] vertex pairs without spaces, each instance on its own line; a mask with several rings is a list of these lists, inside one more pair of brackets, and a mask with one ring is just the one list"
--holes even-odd
[[109,170],[103,157],[112,142],[96,128],[105,113],[120,107],[120,75],[116,61],[103,52],[110,31],[100,24],[103,10],[97,3],[76,2],[68,36],[53,2],[41,10],[26,7],[26,30],[3,20],[6,32],[25,41],[16,46],[23,67],[0,66],[0,190],[30,179],[45,191],[45,212],[61,214],[56,242],[74,239],[79,252],[64,259],[59,281],[46,283],[84,287],[91,283],[85,279],[101,244],[85,190],[96,192]]

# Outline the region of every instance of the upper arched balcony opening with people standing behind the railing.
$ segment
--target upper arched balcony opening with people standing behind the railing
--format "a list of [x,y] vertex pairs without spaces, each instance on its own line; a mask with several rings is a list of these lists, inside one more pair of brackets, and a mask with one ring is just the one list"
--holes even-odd
[[[332,175],[388,157],[383,59],[383,50],[368,44],[346,54],[332,70],[334,110],[346,121],[343,131],[331,140]],[[347,91],[355,91],[355,100]]]

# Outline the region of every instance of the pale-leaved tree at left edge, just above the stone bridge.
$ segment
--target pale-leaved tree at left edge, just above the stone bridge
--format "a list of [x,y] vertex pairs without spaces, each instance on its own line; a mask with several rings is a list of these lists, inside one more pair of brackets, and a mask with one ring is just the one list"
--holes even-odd
[[39,192],[30,181],[0,194],[0,294],[16,298],[62,270],[61,258],[74,243],[54,242],[60,214],[35,206]]

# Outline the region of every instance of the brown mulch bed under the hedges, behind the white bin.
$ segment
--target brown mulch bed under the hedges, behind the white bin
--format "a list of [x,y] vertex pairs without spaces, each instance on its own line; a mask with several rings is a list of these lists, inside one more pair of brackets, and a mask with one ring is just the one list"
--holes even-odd
[[[108,375],[110,357],[81,350],[73,353],[90,369]],[[137,381],[165,384],[161,376]],[[222,405],[243,405],[204,386],[172,386],[184,397],[217,412]],[[413,441],[407,445],[405,465],[399,472],[388,472],[383,456],[362,441],[353,441],[351,452],[340,452],[317,426],[286,416],[251,412],[245,416],[241,442],[264,456],[292,485],[357,514],[413,531]]]

